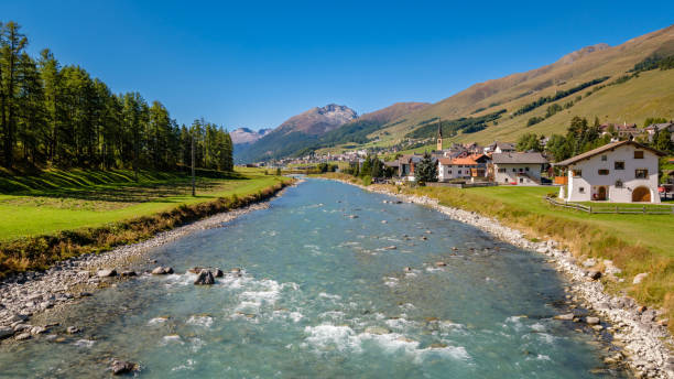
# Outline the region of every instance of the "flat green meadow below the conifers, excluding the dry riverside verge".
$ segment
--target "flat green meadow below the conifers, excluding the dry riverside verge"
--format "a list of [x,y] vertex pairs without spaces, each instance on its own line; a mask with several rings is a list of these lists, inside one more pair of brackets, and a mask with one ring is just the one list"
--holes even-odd
[[0,240],[97,227],[148,216],[181,204],[195,204],[272,186],[282,177],[263,170],[237,169],[230,178],[145,172],[139,182],[128,171],[52,171],[40,176],[0,177]]

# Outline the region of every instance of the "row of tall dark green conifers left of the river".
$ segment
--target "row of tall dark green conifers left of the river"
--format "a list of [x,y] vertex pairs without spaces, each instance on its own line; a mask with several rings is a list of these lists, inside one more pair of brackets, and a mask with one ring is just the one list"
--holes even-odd
[[90,167],[174,171],[233,169],[226,129],[197,119],[178,126],[160,102],[113,94],[45,48],[36,58],[15,22],[0,22],[0,158],[8,169]]

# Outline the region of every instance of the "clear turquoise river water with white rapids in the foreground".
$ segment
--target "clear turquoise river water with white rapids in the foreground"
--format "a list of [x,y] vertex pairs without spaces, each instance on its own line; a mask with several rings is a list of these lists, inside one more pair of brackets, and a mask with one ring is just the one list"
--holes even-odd
[[[68,306],[61,328],[84,332],[6,344],[0,377],[108,377],[112,357],[163,379],[623,376],[597,369],[595,337],[552,318],[568,308],[543,256],[391,199],[307,180],[268,209],[156,248],[146,257],[176,274]],[[242,274],[197,286],[195,266]]]

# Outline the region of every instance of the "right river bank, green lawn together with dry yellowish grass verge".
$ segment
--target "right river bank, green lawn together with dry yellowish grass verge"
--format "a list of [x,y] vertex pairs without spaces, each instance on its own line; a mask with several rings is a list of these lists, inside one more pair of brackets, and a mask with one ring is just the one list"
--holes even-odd
[[[360,180],[343,174],[327,177]],[[524,231],[531,239],[553,238],[577,258],[610,259],[622,270],[622,283],[605,281],[609,291],[627,292],[640,303],[664,307],[674,315],[674,216],[588,215],[554,207],[543,201],[551,187],[395,187],[385,190],[428,196],[442,205],[476,212]],[[601,263],[599,263],[601,269]],[[635,274],[649,272],[640,284]],[[670,323],[674,332],[674,323]]]

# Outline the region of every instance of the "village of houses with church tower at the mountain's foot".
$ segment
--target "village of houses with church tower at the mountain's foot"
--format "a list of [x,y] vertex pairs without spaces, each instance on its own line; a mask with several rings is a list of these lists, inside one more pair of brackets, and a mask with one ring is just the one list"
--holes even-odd
[[[438,128],[435,150],[426,153],[396,154],[384,161],[383,170],[372,175],[376,182],[418,184],[431,186],[555,186],[563,202],[651,203],[674,197],[674,171],[660,172],[659,160],[666,153],[653,149],[649,142],[660,132],[667,132],[674,143],[674,121],[653,123],[645,128],[635,124],[601,124],[600,136],[609,136],[608,143],[555,162],[545,151],[548,138],[541,138],[543,151],[518,151],[517,143],[494,141],[487,147],[478,143],[452,143],[444,148]],[[369,150],[340,154],[306,155],[275,162],[276,166],[311,170],[323,164],[345,172],[359,172]],[[379,155],[376,155],[379,156]],[[430,160],[433,177],[420,175],[424,159]],[[339,164],[337,164],[339,163]]]

